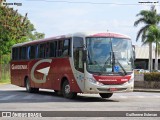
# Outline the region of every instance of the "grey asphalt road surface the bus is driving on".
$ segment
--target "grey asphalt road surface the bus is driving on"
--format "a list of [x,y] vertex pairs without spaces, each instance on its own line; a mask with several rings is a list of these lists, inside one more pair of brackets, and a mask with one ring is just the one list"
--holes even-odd
[[[27,93],[25,88],[17,87],[14,85],[0,85],[0,111],[50,111],[46,115],[54,116],[56,119],[67,119],[67,115],[71,115],[66,112],[57,111],[82,111],[80,114],[75,113],[78,118],[80,116],[86,117],[87,115],[94,114],[100,118],[93,116],[86,119],[105,119],[103,112],[108,111],[108,115],[117,115],[119,117],[113,118],[115,120],[128,119],[123,117],[129,112],[140,111],[160,111],[160,93],[149,92],[130,92],[130,93],[115,93],[109,99],[102,99],[98,94],[78,94],[78,97],[74,100],[63,98],[58,96],[52,90],[40,90],[39,93]],[[52,111],[52,112],[51,112]],[[55,111],[55,112],[53,112]],[[90,111],[90,112],[85,112]],[[94,112],[93,112],[94,111]],[[113,112],[111,112],[113,111]],[[115,113],[116,111],[116,113]],[[159,112],[160,113],[160,112]],[[158,113],[158,114],[159,114]],[[58,116],[59,115],[59,116]],[[60,117],[60,115],[66,117]],[[92,116],[91,115],[91,116]],[[129,117],[133,120],[138,120],[137,117]],[[1,119],[1,118],[0,118]],[[3,119],[3,118],[2,118]],[[18,119],[18,118],[17,118]],[[25,118],[29,119],[29,118]],[[37,118],[39,119],[39,118]],[[48,119],[48,118],[46,118]],[[74,119],[68,118],[68,119]],[[141,117],[141,119],[151,120],[151,118]],[[152,119],[159,119],[159,117],[152,117]]]

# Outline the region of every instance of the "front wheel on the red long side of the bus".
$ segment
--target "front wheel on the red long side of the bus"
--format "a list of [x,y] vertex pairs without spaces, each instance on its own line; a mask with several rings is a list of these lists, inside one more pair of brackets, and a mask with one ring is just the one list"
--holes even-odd
[[77,93],[70,91],[70,85],[67,80],[65,80],[63,83],[62,94],[64,97],[69,98],[69,99],[73,99],[77,96]]

